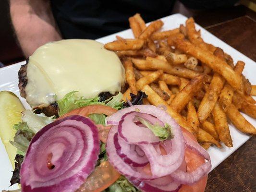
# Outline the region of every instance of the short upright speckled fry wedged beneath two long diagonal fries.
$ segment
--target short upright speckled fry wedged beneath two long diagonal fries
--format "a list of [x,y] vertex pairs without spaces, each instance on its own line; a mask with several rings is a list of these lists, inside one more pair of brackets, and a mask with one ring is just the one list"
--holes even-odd
[[187,105],[187,122],[194,128],[195,132],[198,132],[200,123],[192,101],[189,101]]

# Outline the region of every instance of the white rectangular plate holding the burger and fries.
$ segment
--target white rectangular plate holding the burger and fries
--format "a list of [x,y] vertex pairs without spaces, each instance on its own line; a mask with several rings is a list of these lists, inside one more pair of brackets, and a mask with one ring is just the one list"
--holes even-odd
[[[174,14],[168,17],[164,17],[161,20],[164,22],[162,30],[169,30],[179,27],[180,24],[184,24],[187,18],[181,14]],[[216,36],[213,36],[207,32],[204,28],[199,25],[196,25],[197,29],[201,30],[201,35],[207,43],[211,43],[216,47],[222,48],[226,53],[230,54],[234,62],[242,60],[246,63],[243,74],[246,78],[250,80],[252,84],[256,84],[256,63],[253,60],[250,60],[242,53],[238,52],[234,48],[230,47],[223,41],[219,40]],[[97,39],[101,43],[108,43],[116,39],[116,35],[122,36],[124,38],[134,38],[132,30],[128,29],[110,36],[105,36]],[[20,66],[23,65],[25,61],[16,63],[14,65],[1,68],[0,69],[0,91],[7,90],[15,93],[24,104],[25,108],[30,108],[26,103],[25,99],[20,96],[18,88],[18,71]],[[243,114],[244,115],[244,114]],[[247,115],[244,115],[246,120],[252,123],[256,127],[256,120]],[[216,147],[210,147],[208,152],[212,160],[212,169],[216,168],[223,160],[230,156],[236,149],[238,149],[242,144],[244,144],[250,136],[243,134],[242,132],[237,131],[233,125],[230,125],[230,132],[233,139],[233,147],[228,148],[223,146],[221,149]],[[8,187],[10,185],[10,178],[12,176],[12,166],[5,151],[3,144],[0,142],[0,190],[6,189],[16,189],[17,186]]]

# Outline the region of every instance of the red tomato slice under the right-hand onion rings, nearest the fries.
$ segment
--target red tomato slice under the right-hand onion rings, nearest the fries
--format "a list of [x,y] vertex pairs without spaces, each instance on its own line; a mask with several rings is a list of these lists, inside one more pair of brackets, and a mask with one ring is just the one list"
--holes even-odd
[[[186,134],[191,139],[195,140],[195,137],[182,128],[183,134]],[[192,172],[200,165],[205,163],[205,159],[202,156],[199,156],[195,151],[186,148],[185,149],[185,161],[187,164],[187,171]],[[204,192],[207,184],[207,176],[203,177],[201,180],[198,180],[193,185],[183,185],[179,192]]]

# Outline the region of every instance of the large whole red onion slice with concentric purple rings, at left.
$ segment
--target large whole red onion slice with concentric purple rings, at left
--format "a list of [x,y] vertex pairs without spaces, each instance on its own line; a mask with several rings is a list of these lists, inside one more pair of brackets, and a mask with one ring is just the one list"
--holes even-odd
[[89,118],[56,120],[33,137],[21,167],[24,192],[74,192],[94,170],[98,130]]

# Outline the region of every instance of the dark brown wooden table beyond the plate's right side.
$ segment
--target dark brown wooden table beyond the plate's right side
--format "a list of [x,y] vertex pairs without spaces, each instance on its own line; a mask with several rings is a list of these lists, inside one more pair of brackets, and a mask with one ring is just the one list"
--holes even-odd
[[[239,6],[216,11],[190,12],[186,16],[193,16],[196,23],[256,61],[255,12]],[[256,192],[255,136],[209,173],[205,192]]]

